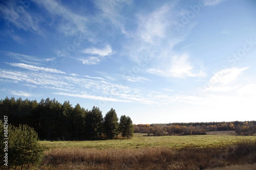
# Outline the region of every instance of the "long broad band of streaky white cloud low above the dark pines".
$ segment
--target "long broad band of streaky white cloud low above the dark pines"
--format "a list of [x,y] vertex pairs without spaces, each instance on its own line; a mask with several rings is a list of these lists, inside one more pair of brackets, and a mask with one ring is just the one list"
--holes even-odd
[[[58,93],[58,91],[60,93],[61,91],[68,91],[69,94],[65,95],[72,95],[74,93],[77,96],[77,91],[86,91],[90,92],[90,95],[85,92],[79,97],[106,101],[127,102],[128,100],[120,99],[120,94],[131,94],[138,91],[135,88],[108,82],[108,80],[100,77],[88,77],[90,79],[87,79],[81,76],[74,77],[67,74],[0,70],[0,78],[3,80],[15,80],[17,83],[24,84],[25,82],[31,85],[39,85],[40,88],[52,89],[55,93]],[[106,95],[106,97],[99,97],[101,95]],[[112,99],[109,96],[113,96]]]

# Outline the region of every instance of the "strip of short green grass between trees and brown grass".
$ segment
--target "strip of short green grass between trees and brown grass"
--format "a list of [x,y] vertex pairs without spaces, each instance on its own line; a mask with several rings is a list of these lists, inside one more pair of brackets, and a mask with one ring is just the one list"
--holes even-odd
[[84,148],[142,148],[168,147],[180,149],[183,147],[226,147],[244,140],[255,140],[256,136],[236,135],[192,135],[192,136],[146,136],[135,133],[132,139],[97,140],[97,141],[40,141],[47,150],[58,147]]

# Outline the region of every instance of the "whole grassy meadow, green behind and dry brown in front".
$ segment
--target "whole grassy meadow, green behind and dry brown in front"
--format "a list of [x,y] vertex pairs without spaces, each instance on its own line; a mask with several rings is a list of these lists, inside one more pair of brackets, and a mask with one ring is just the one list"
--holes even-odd
[[[98,141],[40,141],[41,170],[203,170],[255,168],[256,136],[208,134]],[[236,165],[240,164],[240,165]],[[248,169],[248,168],[247,168]]]

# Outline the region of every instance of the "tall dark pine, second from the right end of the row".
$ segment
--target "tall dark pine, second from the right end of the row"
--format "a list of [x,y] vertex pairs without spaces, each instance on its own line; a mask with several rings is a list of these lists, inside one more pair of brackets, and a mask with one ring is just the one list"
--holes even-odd
[[111,108],[104,118],[104,130],[108,139],[118,135],[118,117],[116,111]]

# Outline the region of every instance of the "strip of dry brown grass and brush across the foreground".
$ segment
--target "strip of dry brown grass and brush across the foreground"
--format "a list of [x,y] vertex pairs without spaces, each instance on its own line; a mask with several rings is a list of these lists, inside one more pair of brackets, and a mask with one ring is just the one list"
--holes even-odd
[[227,148],[187,147],[180,150],[166,147],[55,148],[48,150],[45,156],[42,170],[204,170],[253,164],[256,162],[256,142],[242,142]]

